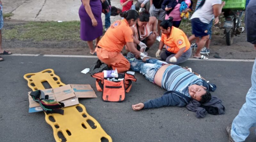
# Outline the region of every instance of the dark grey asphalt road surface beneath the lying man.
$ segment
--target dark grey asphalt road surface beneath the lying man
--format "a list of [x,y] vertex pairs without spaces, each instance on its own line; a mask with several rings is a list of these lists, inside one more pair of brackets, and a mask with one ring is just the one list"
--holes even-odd
[[[28,113],[31,89],[23,78],[26,73],[51,68],[65,84],[90,84],[98,98],[79,99],[114,142],[226,142],[226,126],[232,122],[245,102],[251,87],[253,62],[187,61],[180,66],[191,67],[217,86],[212,95],[223,101],[225,115],[196,118],[187,108],[164,107],[133,111],[132,104],[160,97],[165,92],[135,73],[124,102],[103,102],[95,88],[95,79],[83,74],[95,58],[3,56],[0,63],[0,141],[52,142],[52,128],[44,120],[44,113]],[[254,129],[246,142],[256,141]]]

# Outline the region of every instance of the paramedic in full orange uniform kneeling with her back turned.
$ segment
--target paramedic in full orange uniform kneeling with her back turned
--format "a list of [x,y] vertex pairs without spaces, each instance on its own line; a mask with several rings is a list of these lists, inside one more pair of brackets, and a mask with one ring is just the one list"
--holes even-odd
[[124,45],[136,56],[144,57],[145,54],[138,51],[133,44],[132,29],[139,17],[135,10],[124,11],[120,13],[123,20],[115,21],[101,38],[95,52],[101,62],[112,66],[113,70],[118,72],[128,71],[130,69],[129,61],[121,54]]

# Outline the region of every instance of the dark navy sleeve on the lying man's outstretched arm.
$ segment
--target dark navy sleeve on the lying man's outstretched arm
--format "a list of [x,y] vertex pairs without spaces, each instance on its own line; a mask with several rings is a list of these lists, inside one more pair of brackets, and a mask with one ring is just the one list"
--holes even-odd
[[166,107],[166,106],[177,106],[177,107],[184,107],[186,106],[186,102],[179,96],[168,93],[166,95],[163,95],[160,98],[156,98],[153,100],[148,100],[144,103],[144,109],[147,108],[160,108],[160,107]]

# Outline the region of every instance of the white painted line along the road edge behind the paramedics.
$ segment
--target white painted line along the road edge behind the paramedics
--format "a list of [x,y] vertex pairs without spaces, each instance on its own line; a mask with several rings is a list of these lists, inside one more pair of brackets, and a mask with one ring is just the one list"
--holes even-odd
[[[12,54],[11,56],[39,56],[40,54]],[[44,57],[76,57],[76,58],[98,58],[97,56],[90,56],[90,55],[42,55]],[[158,58],[160,59],[160,58]],[[196,58],[189,58],[190,61],[202,61]],[[208,59],[204,61],[230,61],[230,62],[254,62],[254,60],[249,59]]]

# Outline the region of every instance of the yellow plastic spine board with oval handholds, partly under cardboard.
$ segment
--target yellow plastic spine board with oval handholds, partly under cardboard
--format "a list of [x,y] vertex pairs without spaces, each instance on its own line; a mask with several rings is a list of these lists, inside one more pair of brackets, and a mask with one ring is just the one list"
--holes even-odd
[[[52,88],[64,86],[60,77],[52,69],[37,73],[28,73],[23,76],[28,81],[28,87],[33,91],[44,90],[42,82],[47,81]],[[90,116],[82,104],[62,108],[64,115],[46,114],[45,121],[52,126],[56,142],[66,138],[67,142],[100,142],[101,138],[112,138],[101,128],[100,124]]]

